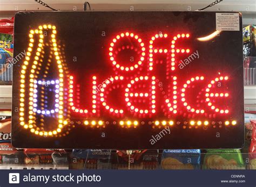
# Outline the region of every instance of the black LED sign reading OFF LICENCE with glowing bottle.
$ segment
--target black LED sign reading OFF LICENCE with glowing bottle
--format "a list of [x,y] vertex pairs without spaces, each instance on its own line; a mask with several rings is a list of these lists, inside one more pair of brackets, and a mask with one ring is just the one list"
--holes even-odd
[[19,12],[19,148],[240,148],[242,30],[215,12]]

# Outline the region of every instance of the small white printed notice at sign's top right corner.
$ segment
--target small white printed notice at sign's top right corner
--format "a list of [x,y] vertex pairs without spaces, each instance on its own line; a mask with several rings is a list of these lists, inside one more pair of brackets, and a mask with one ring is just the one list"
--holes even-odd
[[216,13],[216,30],[239,31],[239,13]]

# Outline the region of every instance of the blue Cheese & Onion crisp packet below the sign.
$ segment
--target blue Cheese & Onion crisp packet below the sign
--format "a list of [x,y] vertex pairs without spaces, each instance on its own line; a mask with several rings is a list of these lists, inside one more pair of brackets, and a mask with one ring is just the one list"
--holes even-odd
[[161,160],[163,169],[197,169],[200,149],[164,149]]

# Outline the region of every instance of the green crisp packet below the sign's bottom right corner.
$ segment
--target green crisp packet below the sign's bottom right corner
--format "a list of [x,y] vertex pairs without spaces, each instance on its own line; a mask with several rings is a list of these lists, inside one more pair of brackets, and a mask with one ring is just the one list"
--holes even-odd
[[205,169],[244,169],[239,149],[209,149],[204,157]]

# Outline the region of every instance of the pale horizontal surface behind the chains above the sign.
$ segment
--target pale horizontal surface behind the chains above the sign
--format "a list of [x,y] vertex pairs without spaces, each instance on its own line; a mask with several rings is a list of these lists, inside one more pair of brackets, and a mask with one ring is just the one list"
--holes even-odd
[[[89,1],[89,0],[87,0]],[[91,0],[92,10],[180,10],[194,11],[215,0]],[[59,10],[83,10],[84,0],[43,0]],[[0,18],[11,17],[17,11],[50,10],[34,0],[0,0]],[[256,0],[224,0],[208,11],[240,11],[244,25],[256,25]]]

